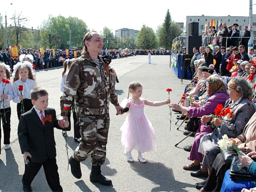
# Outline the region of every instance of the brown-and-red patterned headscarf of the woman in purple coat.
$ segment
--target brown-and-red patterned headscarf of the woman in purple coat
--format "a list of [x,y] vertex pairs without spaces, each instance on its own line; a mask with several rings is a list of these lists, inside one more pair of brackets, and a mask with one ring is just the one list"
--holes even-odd
[[226,85],[224,84],[222,79],[220,79],[218,77],[209,76],[208,83],[209,83],[209,88],[208,88],[209,96],[212,96],[214,93],[227,91]]

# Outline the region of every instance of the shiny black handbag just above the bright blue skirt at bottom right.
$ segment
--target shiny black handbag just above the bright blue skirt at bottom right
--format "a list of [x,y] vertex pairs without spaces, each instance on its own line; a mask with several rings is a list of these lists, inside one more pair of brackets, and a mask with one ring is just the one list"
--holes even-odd
[[247,172],[247,167],[241,165],[239,157],[234,157],[230,166],[230,178],[235,181],[256,180],[256,177]]

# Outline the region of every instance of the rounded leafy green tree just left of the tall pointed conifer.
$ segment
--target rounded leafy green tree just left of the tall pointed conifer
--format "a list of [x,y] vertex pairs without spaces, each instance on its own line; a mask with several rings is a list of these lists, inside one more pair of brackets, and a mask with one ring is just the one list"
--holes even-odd
[[155,49],[157,48],[157,38],[154,30],[151,27],[143,24],[140,32],[137,34],[137,48],[138,49]]

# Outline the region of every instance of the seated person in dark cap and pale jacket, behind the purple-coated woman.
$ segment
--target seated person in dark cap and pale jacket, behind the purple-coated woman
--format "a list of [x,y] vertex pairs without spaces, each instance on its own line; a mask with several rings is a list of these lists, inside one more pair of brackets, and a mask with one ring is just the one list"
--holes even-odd
[[[213,74],[213,69],[209,67],[198,67],[198,78],[200,81],[198,81],[198,84],[194,89],[192,89],[189,93],[186,93],[186,99],[185,101],[181,104],[184,107],[189,107],[189,98],[192,97],[192,99],[195,98],[196,95],[200,91],[203,93],[206,91],[205,86],[206,86],[206,79]],[[186,113],[182,113],[182,117],[180,119],[185,119]],[[179,117],[178,117],[179,118]]]

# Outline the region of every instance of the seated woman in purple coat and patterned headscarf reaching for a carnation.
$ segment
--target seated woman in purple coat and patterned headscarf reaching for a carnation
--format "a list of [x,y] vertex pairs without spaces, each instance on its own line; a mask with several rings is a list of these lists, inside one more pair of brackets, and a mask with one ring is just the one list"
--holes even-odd
[[[217,105],[224,105],[229,96],[227,95],[227,88],[223,83],[222,79],[210,76],[206,81],[208,97],[205,100],[204,105],[200,106],[192,103],[191,107],[187,108],[181,105],[172,104],[170,105],[170,107],[178,111],[186,112],[190,117],[201,117],[204,115],[209,115],[210,113],[214,113],[214,110],[217,107]],[[189,165],[183,166],[183,169],[200,169],[200,161],[203,160],[202,154],[198,153],[200,139],[202,136],[211,133],[212,131],[213,130],[210,126],[206,126],[199,122],[199,129],[196,132],[195,140],[192,145],[192,150],[189,155],[189,160],[193,160],[193,162],[190,163]]]

